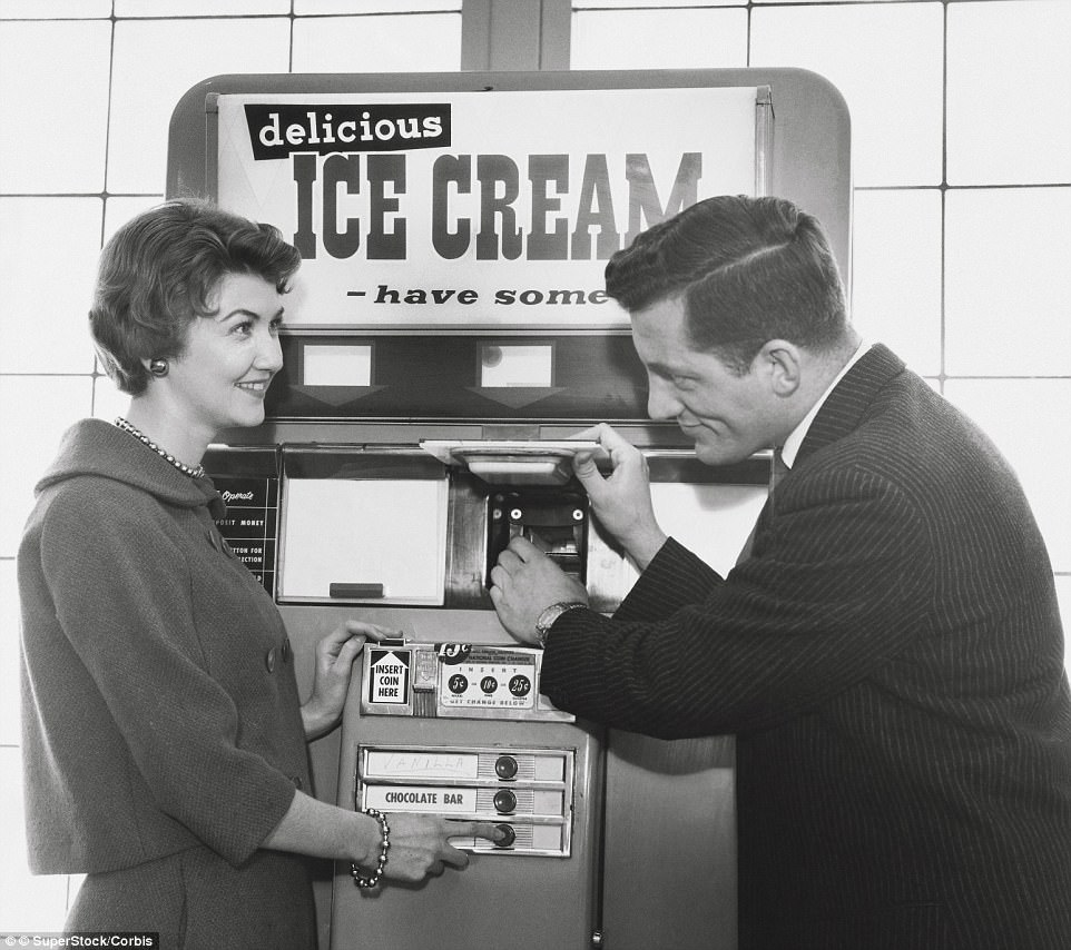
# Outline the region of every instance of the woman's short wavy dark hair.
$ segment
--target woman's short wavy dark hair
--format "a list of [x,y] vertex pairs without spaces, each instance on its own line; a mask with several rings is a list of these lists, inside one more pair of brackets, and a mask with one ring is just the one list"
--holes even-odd
[[190,324],[212,316],[228,274],[263,277],[281,294],[301,255],[271,225],[207,201],[176,200],[127,221],[105,245],[89,326],[97,355],[131,396],[148,385],[143,360],[180,356]]

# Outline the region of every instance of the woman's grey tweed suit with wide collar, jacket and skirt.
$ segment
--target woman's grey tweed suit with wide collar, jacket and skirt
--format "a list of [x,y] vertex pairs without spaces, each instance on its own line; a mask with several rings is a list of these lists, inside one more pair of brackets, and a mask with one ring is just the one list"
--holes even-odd
[[309,946],[303,860],[259,849],[308,784],[293,659],[219,495],[97,419],[38,493],[18,565],[31,870],[89,874],[70,928]]

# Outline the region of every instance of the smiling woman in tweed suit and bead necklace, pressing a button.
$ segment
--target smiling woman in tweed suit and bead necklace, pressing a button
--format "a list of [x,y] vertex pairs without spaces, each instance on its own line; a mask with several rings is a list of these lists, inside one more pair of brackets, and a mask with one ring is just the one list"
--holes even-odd
[[200,458],[263,422],[299,263],[274,228],[191,202],[141,215],[101,255],[90,325],[129,410],[66,434],[19,552],[30,863],[88,875],[71,930],[313,947],[299,855],[351,861],[364,885],[419,881],[466,864],[449,835],[498,834],[308,794],[305,741],[337,722],[351,664],[384,631],[325,637],[301,705],[278,612],[214,525]]

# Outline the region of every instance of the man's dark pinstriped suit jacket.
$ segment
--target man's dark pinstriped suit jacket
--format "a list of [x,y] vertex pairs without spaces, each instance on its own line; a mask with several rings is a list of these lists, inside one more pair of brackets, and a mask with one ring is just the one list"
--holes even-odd
[[884,346],[751,556],[721,578],[670,540],[612,620],[558,621],[542,689],[620,729],[737,734],[745,950],[1071,948],[1049,557],[1008,464]]

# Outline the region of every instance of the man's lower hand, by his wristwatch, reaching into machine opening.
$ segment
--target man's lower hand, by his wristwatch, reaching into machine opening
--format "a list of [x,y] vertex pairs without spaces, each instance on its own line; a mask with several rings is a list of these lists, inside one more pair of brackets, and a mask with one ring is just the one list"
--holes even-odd
[[522,643],[536,643],[536,621],[558,601],[588,603],[583,584],[564,573],[534,544],[514,537],[491,568],[491,603]]

